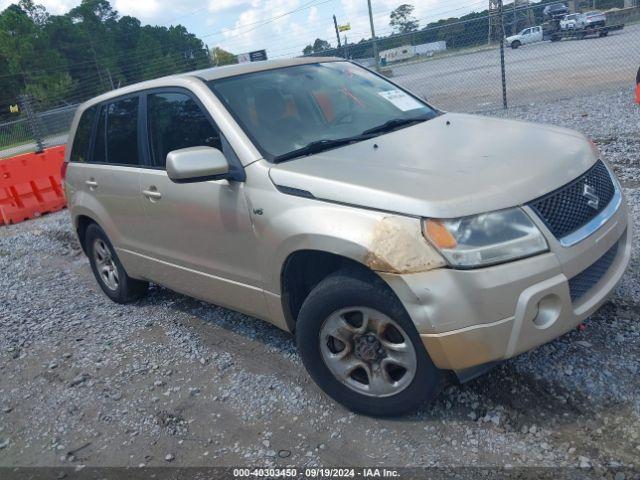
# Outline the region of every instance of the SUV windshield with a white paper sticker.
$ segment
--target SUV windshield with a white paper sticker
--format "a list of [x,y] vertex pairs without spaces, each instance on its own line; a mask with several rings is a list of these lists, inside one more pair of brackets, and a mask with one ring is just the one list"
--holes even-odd
[[334,140],[365,140],[436,116],[418,98],[349,62],[265,70],[212,80],[209,87],[269,161],[340,146]]

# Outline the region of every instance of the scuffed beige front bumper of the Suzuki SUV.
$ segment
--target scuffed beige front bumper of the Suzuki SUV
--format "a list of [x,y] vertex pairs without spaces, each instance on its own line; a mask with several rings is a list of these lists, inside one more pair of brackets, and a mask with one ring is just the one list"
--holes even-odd
[[[548,230],[545,234],[552,238],[550,252],[528,259],[467,271],[382,275],[437,367],[463,370],[511,358],[573,329],[607,300],[631,257],[632,227],[624,201],[606,224],[570,248]],[[569,279],[616,243],[606,273],[572,301]]]

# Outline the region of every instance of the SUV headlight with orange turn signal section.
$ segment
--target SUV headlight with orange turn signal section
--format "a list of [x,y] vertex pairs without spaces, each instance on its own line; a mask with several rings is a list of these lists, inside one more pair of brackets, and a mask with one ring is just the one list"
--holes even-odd
[[549,249],[520,208],[455,219],[424,219],[424,236],[449,264],[470,268],[528,257]]

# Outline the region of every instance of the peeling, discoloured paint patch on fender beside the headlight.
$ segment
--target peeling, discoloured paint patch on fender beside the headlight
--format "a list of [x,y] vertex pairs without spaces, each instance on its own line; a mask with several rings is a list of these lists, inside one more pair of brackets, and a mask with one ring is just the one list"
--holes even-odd
[[415,220],[397,217],[384,217],[376,224],[365,263],[387,273],[425,272],[445,265],[416,228]]

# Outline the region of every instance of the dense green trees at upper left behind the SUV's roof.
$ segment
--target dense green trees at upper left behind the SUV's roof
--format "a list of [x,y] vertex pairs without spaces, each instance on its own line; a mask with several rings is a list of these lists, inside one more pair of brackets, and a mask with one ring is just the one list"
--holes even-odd
[[46,108],[210,64],[202,41],[182,25],[142,26],[108,0],[82,0],[65,15],[49,15],[34,0],[0,11],[0,113],[21,93]]

